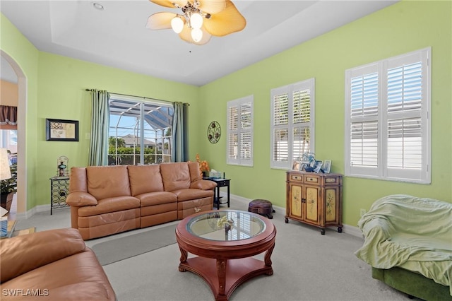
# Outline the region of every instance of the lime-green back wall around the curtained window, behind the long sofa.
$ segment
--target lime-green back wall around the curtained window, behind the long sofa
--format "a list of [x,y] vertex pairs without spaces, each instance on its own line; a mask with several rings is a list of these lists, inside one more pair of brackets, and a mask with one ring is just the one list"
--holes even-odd
[[[37,151],[40,154],[39,204],[49,201],[49,177],[57,174],[57,158],[66,155],[69,167],[88,165],[91,126],[91,98],[86,88],[110,93],[144,96],[169,101],[194,103],[199,88],[160,78],[114,69],[107,66],[40,52],[39,107],[37,110]],[[191,108],[191,107],[190,107]],[[45,140],[45,119],[79,121],[79,142]]]

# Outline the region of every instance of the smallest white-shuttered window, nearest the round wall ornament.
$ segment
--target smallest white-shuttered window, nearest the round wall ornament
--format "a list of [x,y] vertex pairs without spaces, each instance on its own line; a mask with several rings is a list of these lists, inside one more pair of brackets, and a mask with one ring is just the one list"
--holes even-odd
[[253,104],[253,95],[227,102],[227,164],[253,166]]

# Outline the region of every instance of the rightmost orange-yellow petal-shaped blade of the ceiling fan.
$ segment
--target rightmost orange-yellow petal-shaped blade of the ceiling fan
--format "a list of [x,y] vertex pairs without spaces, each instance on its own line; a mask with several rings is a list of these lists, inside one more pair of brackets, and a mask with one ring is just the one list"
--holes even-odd
[[230,0],[226,0],[226,8],[220,13],[212,15],[209,19],[205,18],[203,27],[211,35],[216,35],[222,37],[224,35],[229,35],[230,33],[236,33],[244,29],[246,26],[246,20],[242,16],[234,4]]

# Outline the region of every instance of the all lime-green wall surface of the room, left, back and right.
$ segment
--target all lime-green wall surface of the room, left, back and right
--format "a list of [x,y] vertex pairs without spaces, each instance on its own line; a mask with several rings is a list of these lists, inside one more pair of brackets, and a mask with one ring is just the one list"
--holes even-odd
[[[402,1],[281,52],[201,88],[39,52],[1,15],[1,49],[28,78],[28,209],[49,203],[49,177],[57,158],[69,166],[88,161],[90,96],[85,88],[189,102],[190,159],[196,153],[232,179],[231,192],[269,199],[285,207],[285,170],[270,168],[270,89],[316,78],[316,158],[333,160],[344,172],[344,73],[424,47],[432,47],[432,184],[345,177],[343,222],[356,225],[359,209],[387,194],[429,196],[452,203],[452,59],[450,1]],[[226,165],[226,103],[254,95],[254,167]],[[80,121],[79,142],[45,141],[45,119]],[[222,136],[206,138],[216,120]],[[446,130],[445,130],[446,129]]]

